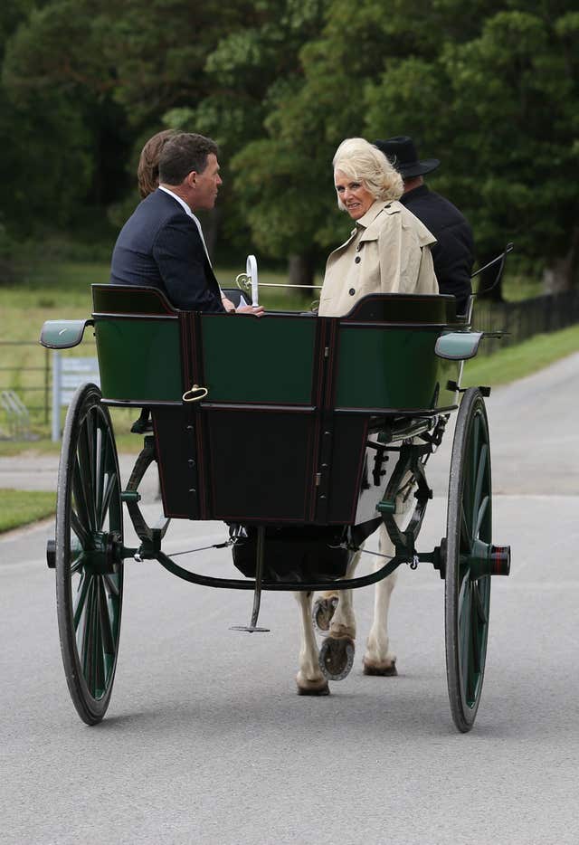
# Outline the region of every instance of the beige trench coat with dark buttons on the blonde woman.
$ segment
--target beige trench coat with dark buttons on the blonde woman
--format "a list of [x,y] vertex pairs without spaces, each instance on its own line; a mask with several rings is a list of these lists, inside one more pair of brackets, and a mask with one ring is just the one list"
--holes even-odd
[[430,244],[436,238],[397,200],[377,201],[331,252],[320,317],[342,317],[369,293],[438,293]]

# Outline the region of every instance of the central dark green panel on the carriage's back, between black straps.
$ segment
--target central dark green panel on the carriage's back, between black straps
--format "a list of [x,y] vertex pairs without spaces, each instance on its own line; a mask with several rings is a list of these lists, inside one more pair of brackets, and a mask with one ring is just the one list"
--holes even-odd
[[310,404],[316,323],[204,315],[206,401]]

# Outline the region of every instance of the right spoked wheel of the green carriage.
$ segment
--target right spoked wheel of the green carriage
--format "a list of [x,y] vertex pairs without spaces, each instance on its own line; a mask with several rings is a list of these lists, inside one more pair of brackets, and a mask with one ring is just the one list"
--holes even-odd
[[477,549],[491,543],[489,423],[479,390],[460,404],[452,444],[445,547],[446,674],[455,725],[474,724],[487,656],[490,575],[477,571]]

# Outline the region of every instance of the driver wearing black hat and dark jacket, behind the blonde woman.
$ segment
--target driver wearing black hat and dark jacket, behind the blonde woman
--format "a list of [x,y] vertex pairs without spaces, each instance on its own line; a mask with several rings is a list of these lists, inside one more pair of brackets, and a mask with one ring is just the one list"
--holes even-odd
[[472,292],[470,273],[474,263],[474,241],[470,225],[459,209],[424,185],[422,176],[435,170],[440,161],[438,158],[419,161],[413,139],[405,135],[374,143],[403,177],[404,193],[400,202],[436,238],[431,249],[439,290],[455,296],[457,313],[463,314]]

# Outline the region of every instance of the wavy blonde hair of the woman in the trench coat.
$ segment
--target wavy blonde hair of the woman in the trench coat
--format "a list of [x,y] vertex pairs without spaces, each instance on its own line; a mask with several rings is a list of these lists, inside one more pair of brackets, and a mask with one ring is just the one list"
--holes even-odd
[[[332,165],[334,173],[341,170],[348,179],[360,182],[376,200],[397,200],[404,193],[402,176],[384,153],[365,138],[346,138],[342,141],[337,147]],[[337,207],[340,211],[346,211],[339,196]]]

